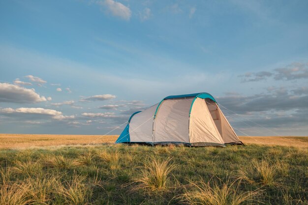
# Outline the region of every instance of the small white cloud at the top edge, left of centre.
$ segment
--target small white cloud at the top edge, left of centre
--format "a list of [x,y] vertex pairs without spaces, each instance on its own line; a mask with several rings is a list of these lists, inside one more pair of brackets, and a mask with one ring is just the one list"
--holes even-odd
[[131,17],[130,9],[123,3],[120,3],[115,0],[98,0],[96,2],[102,6],[107,7],[114,16],[118,16],[124,20],[129,20]]

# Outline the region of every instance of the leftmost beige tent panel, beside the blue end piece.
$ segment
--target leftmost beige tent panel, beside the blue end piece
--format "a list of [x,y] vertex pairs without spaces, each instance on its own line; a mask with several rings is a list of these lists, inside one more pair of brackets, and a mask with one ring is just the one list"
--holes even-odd
[[131,118],[129,123],[130,142],[153,142],[153,118],[157,105],[137,113]]

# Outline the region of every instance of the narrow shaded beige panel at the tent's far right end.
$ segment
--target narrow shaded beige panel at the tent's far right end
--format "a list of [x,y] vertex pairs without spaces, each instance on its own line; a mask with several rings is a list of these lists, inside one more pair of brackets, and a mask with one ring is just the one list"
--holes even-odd
[[229,124],[227,118],[223,115],[220,108],[217,106],[217,110],[219,113],[219,117],[221,120],[221,129],[222,129],[222,139],[224,143],[235,143],[240,142],[240,139],[232,129],[231,125]]

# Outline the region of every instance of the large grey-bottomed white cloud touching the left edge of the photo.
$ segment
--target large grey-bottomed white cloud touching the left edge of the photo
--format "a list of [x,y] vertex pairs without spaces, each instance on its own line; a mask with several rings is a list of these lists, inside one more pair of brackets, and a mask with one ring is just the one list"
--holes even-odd
[[0,102],[37,103],[44,101],[46,98],[37,94],[33,88],[28,89],[13,84],[0,83]]

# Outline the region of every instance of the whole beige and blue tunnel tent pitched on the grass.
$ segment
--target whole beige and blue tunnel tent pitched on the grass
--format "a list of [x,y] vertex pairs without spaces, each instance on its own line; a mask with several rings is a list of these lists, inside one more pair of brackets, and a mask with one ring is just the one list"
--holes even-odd
[[171,95],[144,111],[132,114],[116,143],[243,144],[214,97],[206,92]]

